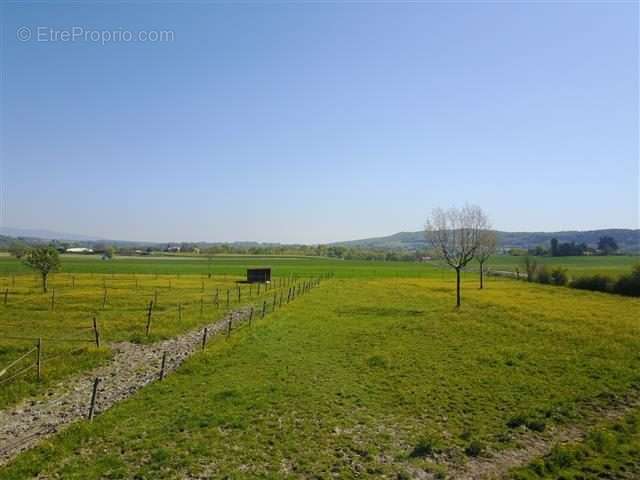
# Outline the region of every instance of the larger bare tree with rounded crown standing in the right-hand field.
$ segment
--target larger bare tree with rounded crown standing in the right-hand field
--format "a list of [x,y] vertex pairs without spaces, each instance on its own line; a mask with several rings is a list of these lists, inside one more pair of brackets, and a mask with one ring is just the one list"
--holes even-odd
[[480,207],[443,210],[436,208],[427,220],[425,233],[438,256],[456,271],[456,306],[460,306],[460,270],[480,247],[481,232],[488,230],[487,216]]

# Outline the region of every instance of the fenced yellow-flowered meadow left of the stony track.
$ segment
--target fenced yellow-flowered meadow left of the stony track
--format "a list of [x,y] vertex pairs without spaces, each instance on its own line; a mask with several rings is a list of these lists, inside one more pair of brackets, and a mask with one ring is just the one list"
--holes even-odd
[[[286,285],[294,281],[293,277],[275,278],[268,290],[264,286],[258,290],[238,280],[241,277],[227,274],[57,273],[51,275],[48,292],[43,293],[35,275],[4,275],[0,278],[0,369],[21,355],[27,357],[0,376],[0,408],[107,360],[112,342],[171,338],[222,318],[240,305],[271,299],[283,290],[286,294]],[[40,381],[36,353],[28,354],[38,339],[42,342]],[[26,368],[30,370],[24,375],[9,380]]]

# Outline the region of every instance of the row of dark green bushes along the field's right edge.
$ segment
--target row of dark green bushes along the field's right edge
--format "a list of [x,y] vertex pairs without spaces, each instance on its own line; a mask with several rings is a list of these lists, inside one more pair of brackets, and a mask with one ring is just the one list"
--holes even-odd
[[570,279],[566,268],[550,269],[546,265],[538,264],[530,256],[525,257],[523,266],[526,279],[529,282],[640,297],[640,264],[635,265],[630,273],[625,273],[615,279],[600,273]]

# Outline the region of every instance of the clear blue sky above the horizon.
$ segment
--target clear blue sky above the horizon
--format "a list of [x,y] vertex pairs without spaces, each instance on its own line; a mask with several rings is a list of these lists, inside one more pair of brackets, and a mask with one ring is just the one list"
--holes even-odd
[[0,8],[3,226],[317,243],[471,202],[638,227],[636,2]]

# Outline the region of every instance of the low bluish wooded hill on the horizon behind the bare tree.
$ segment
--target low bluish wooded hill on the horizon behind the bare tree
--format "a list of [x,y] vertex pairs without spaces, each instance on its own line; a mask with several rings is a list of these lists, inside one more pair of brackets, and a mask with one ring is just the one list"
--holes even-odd
[[[500,246],[503,248],[530,248],[538,245],[548,247],[552,238],[557,238],[560,242],[586,243],[590,247],[596,247],[600,237],[604,236],[613,237],[621,251],[640,253],[640,230],[610,228],[564,232],[498,232]],[[397,250],[416,250],[427,246],[423,231],[399,232],[387,237],[336,242],[332,245]]]

